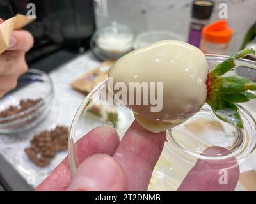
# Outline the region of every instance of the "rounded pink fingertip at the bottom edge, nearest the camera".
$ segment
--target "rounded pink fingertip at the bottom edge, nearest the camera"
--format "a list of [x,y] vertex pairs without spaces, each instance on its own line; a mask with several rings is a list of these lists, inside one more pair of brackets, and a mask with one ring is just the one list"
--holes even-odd
[[125,191],[121,166],[108,154],[94,154],[77,168],[67,191]]

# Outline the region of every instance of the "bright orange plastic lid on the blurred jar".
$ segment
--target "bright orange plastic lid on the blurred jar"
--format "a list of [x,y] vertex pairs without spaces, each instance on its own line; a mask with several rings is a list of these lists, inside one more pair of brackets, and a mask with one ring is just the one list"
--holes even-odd
[[228,43],[232,37],[233,30],[228,27],[226,20],[218,20],[204,27],[202,38],[212,43]]

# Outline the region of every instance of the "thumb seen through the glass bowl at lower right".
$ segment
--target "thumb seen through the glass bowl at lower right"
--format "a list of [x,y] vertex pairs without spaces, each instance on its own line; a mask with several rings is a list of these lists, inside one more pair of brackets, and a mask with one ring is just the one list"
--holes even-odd
[[[205,156],[225,156],[223,147],[209,147]],[[234,191],[239,179],[239,165],[235,157],[221,160],[198,159],[177,191]]]

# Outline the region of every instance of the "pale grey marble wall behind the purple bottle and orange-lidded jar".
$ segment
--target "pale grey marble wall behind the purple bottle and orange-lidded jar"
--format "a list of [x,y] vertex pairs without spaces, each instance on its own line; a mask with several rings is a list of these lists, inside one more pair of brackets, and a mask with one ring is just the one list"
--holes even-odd
[[[95,10],[97,27],[103,27],[109,22],[116,20],[122,24],[129,25],[137,33],[145,30],[160,29],[172,31],[188,40],[192,0],[102,0],[99,2],[101,4]],[[218,5],[220,3],[225,3],[228,6],[227,21],[228,25],[234,30],[234,36],[230,41],[230,48],[228,50],[228,53],[231,54],[239,50],[246,32],[255,24],[256,1],[214,0],[214,3],[215,6],[210,22],[220,20],[218,17],[220,12]],[[106,9],[101,5],[106,6]]]

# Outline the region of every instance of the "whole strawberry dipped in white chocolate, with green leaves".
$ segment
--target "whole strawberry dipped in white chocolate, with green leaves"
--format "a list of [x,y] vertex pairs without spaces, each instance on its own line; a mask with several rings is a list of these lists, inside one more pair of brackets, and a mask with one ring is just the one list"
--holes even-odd
[[242,50],[209,72],[200,49],[177,40],[158,41],[118,59],[109,70],[108,85],[138,123],[154,133],[182,124],[205,102],[218,118],[243,128],[236,103],[255,98],[249,91],[255,84],[222,75],[235,67],[236,59],[253,53]]

